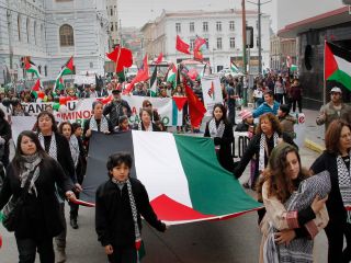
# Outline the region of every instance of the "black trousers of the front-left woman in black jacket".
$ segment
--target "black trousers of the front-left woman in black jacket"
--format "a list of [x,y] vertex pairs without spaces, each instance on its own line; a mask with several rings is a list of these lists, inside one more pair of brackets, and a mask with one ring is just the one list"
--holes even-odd
[[34,263],[36,250],[42,263],[55,263],[53,238],[46,238],[41,241],[15,238],[15,241],[18,243],[20,263]]

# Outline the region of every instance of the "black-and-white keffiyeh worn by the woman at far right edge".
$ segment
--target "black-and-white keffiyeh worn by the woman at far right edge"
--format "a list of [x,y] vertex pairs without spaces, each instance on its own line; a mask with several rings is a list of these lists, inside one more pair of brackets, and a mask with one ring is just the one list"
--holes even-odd
[[[351,151],[349,152],[349,157],[351,158]],[[347,168],[344,161],[341,156],[337,157],[337,165],[338,165],[338,181],[339,188],[341,193],[341,198],[343,202],[343,206],[351,206],[351,161],[350,168]],[[348,210],[348,222],[351,222],[351,211]]]

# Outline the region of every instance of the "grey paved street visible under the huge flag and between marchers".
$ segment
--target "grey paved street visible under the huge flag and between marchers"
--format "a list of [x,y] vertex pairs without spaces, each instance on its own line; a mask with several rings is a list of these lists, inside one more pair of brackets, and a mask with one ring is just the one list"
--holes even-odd
[[[317,112],[306,111],[305,113],[306,137],[316,142],[322,142],[317,138],[318,134],[321,134],[321,128],[316,127],[314,123]],[[305,147],[301,149],[301,155],[305,167],[309,167],[318,156]],[[240,181],[247,178],[246,172]],[[254,195],[252,191],[248,193]],[[106,262],[94,232],[93,208],[80,209],[79,225],[78,230],[68,227],[67,262]],[[13,233],[8,233],[2,226],[0,226],[0,232],[3,236],[0,262],[16,262],[18,252]],[[254,263],[258,262],[261,235],[257,227],[257,214],[249,213],[229,220],[172,226],[166,233],[157,232],[145,225],[143,238],[147,253],[143,261],[145,263]],[[316,262],[327,262],[327,242],[324,232],[316,238],[315,250]]]

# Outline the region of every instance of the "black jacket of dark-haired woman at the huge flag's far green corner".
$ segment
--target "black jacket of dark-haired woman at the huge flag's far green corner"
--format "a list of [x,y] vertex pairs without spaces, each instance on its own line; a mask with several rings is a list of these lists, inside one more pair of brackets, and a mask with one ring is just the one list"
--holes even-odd
[[[210,122],[206,123],[204,137],[211,137],[210,129],[208,129]],[[217,145],[220,146],[217,155],[220,165],[230,172],[233,172],[233,169],[234,169],[234,161],[233,161],[233,156],[230,150],[230,146],[233,141],[234,141],[233,127],[229,124],[225,124],[222,138],[219,137],[214,138],[214,144],[215,146]]]

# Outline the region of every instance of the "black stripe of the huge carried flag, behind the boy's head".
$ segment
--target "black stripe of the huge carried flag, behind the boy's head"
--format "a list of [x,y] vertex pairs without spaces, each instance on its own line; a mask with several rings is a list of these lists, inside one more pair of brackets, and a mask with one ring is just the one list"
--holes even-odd
[[81,194],[81,199],[87,202],[95,201],[97,188],[109,180],[106,169],[107,158],[110,155],[120,151],[132,155],[133,168],[131,175],[136,178],[132,132],[113,135],[93,133],[89,141],[88,167],[82,185],[83,193]]

